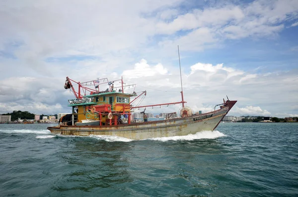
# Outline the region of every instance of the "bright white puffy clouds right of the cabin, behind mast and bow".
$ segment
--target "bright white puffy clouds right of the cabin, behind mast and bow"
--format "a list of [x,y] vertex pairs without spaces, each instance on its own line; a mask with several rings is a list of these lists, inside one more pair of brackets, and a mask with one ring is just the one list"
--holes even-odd
[[[154,66],[148,67],[154,71]],[[140,77],[134,75],[134,81],[139,81],[137,87],[140,84],[141,89],[148,90],[148,96],[143,101],[144,105],[155,104],[156,99],[158,103],[181,100],[179,70],[177,68],[168,70],[171,70],[171,73],[163,74],[162,78],[157,75],[144,79],[142,75]],[[190,66],[190,73],[182,73],[184,99],[187,101],[187,106],[194,111],[207,112],[214,109],[214,106],[221,103],[222,98],[228,95],[229,99],[238,100],[237,108],[232,109],[230,114],[269,116],[278,111],[288,110],[284,103],[296,102],[297,93],[289,91],[297,89],[295,83],[291,82],[296,78],[296,74],[297,71],[252,74],[223,64],[197,63]],[[247,103],[252,105],[246,106]],[[179,106],[170,109],[179,110]]]

